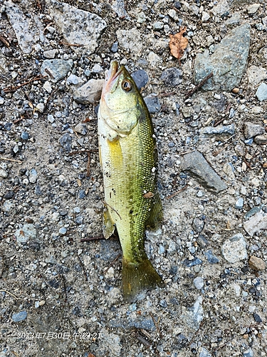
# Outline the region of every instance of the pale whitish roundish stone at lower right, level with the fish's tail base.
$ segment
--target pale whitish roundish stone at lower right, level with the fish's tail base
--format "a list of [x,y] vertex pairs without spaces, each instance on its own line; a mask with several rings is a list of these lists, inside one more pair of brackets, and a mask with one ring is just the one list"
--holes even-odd
[[238,233],[224,241],[221,253],[229,263],[236,263],[248,257],[246,252],[246,241],[243,234]]

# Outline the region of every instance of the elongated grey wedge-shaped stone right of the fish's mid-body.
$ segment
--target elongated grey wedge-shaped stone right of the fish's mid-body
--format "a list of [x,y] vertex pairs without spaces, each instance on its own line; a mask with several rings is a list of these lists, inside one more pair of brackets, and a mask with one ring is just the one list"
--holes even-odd
[[181,171],[189,171],[202,186],[211,192],[219,193],[227,188],[224,181],[216,174],[199,151],[185,154],[180,168]]

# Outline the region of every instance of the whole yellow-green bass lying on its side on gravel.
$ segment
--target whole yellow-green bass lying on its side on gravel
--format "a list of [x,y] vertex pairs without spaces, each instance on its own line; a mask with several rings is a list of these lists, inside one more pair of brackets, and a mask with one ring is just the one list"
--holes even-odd
[[103,171],[103,235],[117,229],[122,246],[122,293],[163,286],[145,253],[145,231],[162,222],[157,191],[157,148],[150,112],[125,66],[112,61],[98,109],[98,146]]

